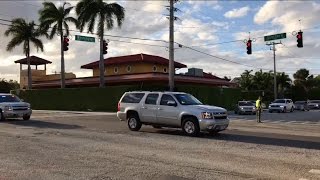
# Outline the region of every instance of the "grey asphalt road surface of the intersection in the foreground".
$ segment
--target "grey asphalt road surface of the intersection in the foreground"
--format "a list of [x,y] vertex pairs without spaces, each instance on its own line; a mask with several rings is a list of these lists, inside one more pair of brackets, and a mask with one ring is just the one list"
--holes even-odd
[[114,113],[0,123],[0,179],[320,179],[320,112],[230,115],[218,136],[128,130]]

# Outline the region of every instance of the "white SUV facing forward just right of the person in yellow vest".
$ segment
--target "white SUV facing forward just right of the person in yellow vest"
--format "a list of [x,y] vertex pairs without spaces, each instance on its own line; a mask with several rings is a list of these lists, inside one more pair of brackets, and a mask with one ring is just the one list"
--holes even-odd
[[291,99],[276,99],[269,105],[269,112],[293,112],[294,105]]

